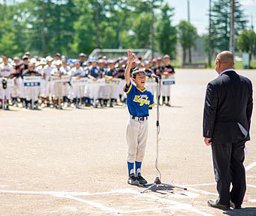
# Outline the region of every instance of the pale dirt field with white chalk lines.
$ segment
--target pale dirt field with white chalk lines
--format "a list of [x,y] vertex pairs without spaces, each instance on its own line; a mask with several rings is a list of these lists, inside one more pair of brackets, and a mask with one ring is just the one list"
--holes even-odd
[[[256,71],[239,71],[256,85]],[[211,148],[203,143],[206,84],[215,71],[177,70],[172,107],[160,107],[162,181],[188,190],[126,183],[126,107],[0,110],[0,215],[256,215],[256,117],[251,121],[241,210],[216,199]],[[256,86],[254,86],[254,89]],[[253,112],[254,113],[254,112]],[[154,181],[156,109],[151,110],[142,174]]]

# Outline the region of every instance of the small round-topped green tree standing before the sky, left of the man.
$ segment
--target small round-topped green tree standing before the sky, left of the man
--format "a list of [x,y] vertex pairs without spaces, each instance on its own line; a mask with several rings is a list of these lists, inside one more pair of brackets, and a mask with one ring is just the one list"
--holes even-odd
[[[196,46],[197,40],[197,28],[195,28],[191,23],[181,20],[178,23],[178,39],[182,47],[182,62],[183,65],[186,63],[186,54],[192,46]],[[191,58],[190,63],[191,63]]]

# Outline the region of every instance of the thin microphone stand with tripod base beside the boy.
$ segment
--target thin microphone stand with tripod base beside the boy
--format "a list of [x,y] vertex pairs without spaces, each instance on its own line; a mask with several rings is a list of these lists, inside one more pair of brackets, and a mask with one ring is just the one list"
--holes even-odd
[[175,186],[172,184],[166,184],[161,182],[161,172],[160,169],[158,168],[158,156],[159,156],[159,152],[158,152],[158,144],[159,144],[159,134],[160,134],[160,123],[159,123],[159,118],[160,118],[160,112],[159,112],[159,97],[160,97],[160,77],[154,77],[155,78],[155,82],[156,82],[156,86],[157,86],[157,157],[156,157],[156,162],[155,162],[155,167],[157,169],[157,177],[154,180],[154,183],[150,184],[149,187],[145,188],[145,190],[142,190],[141,193],[144,193],[146,190],[150,190],[152,187],[156,186],[163,186],[163,187],[176,187],[182,190],[187,190],[186,187],[179,187],[179,186]]

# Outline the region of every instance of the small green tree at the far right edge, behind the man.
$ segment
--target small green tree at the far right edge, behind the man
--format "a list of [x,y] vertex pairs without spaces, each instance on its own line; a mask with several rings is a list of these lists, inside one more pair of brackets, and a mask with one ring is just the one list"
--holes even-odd
[[236,44],[239,50],[249,53],[249,64],[251,64],[251,55],[256,54],[255,32],[253,30],[242,30],[242,33],[236,37]]

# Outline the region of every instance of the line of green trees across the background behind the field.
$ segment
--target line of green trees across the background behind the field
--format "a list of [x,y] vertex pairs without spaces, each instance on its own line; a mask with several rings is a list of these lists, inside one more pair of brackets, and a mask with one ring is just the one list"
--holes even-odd
[[[163,0],[5,0],[4,3],[0,4],[0,53],[10,56],[29,50],[35,55],[61,52],[75,57],[79,52],[89,54],[95,48],[153,47],[155,52],[175,58],[180,43],[185,62],[187,51],[196,46],[199,37],[197,28],[186,20],[173,25],[175,8]],[[255,33],[246,30],[248,20],[239,1],[235,17],[236,48],[250,52],[251,56],[255,54]],[[213,1],[211,24],[209,34],[203,37],[206,52],[210,48],[213,56],[218,50],[229,49],[230,0]],[[188,55],[190,62],[191,53]]]

